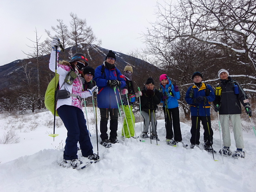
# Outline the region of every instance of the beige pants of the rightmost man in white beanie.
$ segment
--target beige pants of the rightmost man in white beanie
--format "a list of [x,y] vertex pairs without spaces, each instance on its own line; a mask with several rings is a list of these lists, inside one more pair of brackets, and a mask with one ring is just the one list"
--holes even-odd
[[244,148],[244,139],[243,139],[243,133],[242,133],[242,122],[241,122],[240,114],[220,115],[223,145],[225,147],[229,147],[231,145],[229,121],[231,121],[232,123],[234,138],[236,142],[236,148],[240,148],[240,149]]

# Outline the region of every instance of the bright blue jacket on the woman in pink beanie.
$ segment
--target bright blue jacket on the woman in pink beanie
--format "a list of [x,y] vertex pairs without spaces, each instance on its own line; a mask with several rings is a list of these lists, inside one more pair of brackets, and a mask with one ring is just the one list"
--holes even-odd
[[[160,84],[160,91],[163,96],[167,96],[167,108],[176,108],[179,106],[178,99],[180,99],[180,92],[174,91],[174,86],[171,80],[168,80],[168,84],[166,84],[165,88],[162,84]],[[166,102],[164,102],[161,98],[161,103],[163,103],[163,107],[166,107]]]

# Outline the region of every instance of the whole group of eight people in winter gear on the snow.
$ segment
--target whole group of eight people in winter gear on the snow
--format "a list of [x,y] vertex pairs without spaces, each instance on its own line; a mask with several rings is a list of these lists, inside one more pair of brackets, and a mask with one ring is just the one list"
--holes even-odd
[[[159,77],[160,89],[155,88],[154,80],[150,77],[146,80],[144,88],[140,91],[134,90],[132,81],[133,68],[130,64],[125,66],[123,73],[116,68],[116,55],[110,50],[105,61],[95,70],[88,66],[88,60],[82,53],[76,53],[69,62],[60,61],[56,66],[56,51],[60,41],[54,38],[49,68],[60,75],[59,90],[67,91],[68,97],[57,100],[56,110],[62,119],[68,133],[63,155],[62,166],[78,167],[82,161],[78,159],[79,142],[82,156],[90,160],[98,160],[98,154],[94,154],[90,135],[87,130],[86,120],[82,112],[83,99],[95,94],[100,109],[100,144],[106,148],[119,142],[117,138],[119,103],[122,102],[125,119],[123,122],[122,136],[125,138],[136,138],[135,118],[132,106],[136,98],[140,97],[141,115],[143,117],[142,138],[151,138],[159,141],[157,134],[156,110],[158,104],[162,103],[166,127],[166,144],[176,145],[182,142],[180,130],[179,104],[180,91],[176,83],[172,83],[166,74]],[[67,76],[73,72],[71,83],[67,83]],[[252,115],[248,98],[236,80],[228,76],[228,71],[221,69],[218,72],[220,84],[216,91],[209,84],[202,82],[203,76],[200,72],[194,72],[192,80],[194,84],[186,92],[185,100],[190,105],[191,112],[191,138],[190,148],[200,144],[200,122],[204,129],[204,149],[216,152],[212,148],[213,130],[211,128],[210,104],[214,103],[214,110],[220,114],[222,136],[224,147],[220,153],[231,155],[230,130],[231,120],[237,150],[235,157],[244,157],[244,141],[240,114],[242,112],[240,103],[246,109],[249,116]],[[110,117],[110,133],[108,136],[108,119]],[[149,130],[150,128],[150,130]],[[150,133],[150,135],[148,135]]]

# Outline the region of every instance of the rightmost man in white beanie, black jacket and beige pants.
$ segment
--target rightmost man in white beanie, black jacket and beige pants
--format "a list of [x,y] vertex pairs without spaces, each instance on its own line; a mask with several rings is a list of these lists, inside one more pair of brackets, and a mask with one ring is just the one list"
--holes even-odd
[[232,122],[232,128],[234,131],[234,138],[236,142],[236,150],[232,155],[235,158],[244,158],[244,139],[242,134],[242,122],[240,114],[242,113],[241,104],[244,106],[246,113],[252,116],[250,104],[244,90],[236,80],[232,80],[229,73],[225,69],[221,69],[218,72],[220,78],[220,84],[216,87],[214,100],[215,111],[220,114],[220,124],[222,127],[223,149],[220,153],[225,155],[231,155],[229,147],[231,145],[229,121]]

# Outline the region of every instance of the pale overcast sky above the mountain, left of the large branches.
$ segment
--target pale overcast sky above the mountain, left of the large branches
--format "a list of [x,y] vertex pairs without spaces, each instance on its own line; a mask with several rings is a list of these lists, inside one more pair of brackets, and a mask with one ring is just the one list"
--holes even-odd
[[[158,0],[161,2],[162,0]],[[62,19],[69,26],[70,12],[86,19],[101,47],[127,53],[144,47],[140,34],[156,20],[157,0],[0,0],[0,65],[27,58],[35,28],[41,40],[45,29]],[[53,34],[53,33],[52,33]]]

